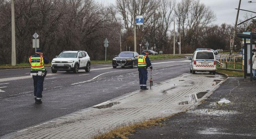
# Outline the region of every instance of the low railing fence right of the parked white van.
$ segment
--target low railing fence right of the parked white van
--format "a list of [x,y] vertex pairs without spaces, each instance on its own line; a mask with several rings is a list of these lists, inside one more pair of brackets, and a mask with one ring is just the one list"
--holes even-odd
[[[223,61],[222,61],[222,57],[225,57],[225,58],[223,58],[224,59]],[[230,62],[228,61],[229,58],[231,58]],[[232,70],[230,65],[228,65],[228,64],[233,64],[233,70],[243,70],[244,71],[243,56],[220,56],[220,60],[219,61],[220,61],[220,66],[222,68],[226,68],[226,69]],[[239,62],[239,61],[241,61],[241,62]],[[225,64],[223,64],[223,63],[225,63]],[[242,67],[240,67],[241,69],[236,69],[236,64],[242,65]]]

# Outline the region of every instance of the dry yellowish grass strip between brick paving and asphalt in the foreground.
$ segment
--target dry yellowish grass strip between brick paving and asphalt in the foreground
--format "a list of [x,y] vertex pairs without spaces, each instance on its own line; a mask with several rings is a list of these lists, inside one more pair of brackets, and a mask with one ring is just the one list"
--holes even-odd
[[134,133],[136,129],[150,128],[156,125],[163,125],[161,121],[167,120],[167,118],[158,118],[152,120],[144,120],[142,122],[136,122],[131,125],[121,125],[115,129],[110,129],[109,132],[103,133],[101,135],[96,135],[92,137],[93,139],[111,139],[115,137],[121,137],[123,139],[128,139],[127,135]]

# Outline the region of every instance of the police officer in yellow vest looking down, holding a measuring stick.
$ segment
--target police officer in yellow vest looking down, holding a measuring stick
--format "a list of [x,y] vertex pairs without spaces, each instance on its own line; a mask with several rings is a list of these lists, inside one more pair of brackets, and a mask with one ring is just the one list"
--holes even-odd
[[151,62],[148,57],[149,52],[145,51],[139,55],[138,58],[138,71],[139,71],[139,79],[140,79],[140,86],[142,90],[148,90],[146,82],[148,79],[148,71],[147,68],[149,67],[151,70],[153,69]]

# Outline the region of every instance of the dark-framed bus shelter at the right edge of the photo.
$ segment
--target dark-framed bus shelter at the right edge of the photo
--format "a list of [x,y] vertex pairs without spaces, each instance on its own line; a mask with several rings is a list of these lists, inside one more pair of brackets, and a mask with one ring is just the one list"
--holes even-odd
[[[240,34],[237,33],[237,37],[244,39],[244,52],[243,52],[243,59],[244,59],[244,78],[250,76],[250,81],[252,82],[254,79],[253,77],[253,63],[252,63],[252,49],[256,47],[256,33],[251,32],[250,34]],[[249,39],[249,43],[248,43]],[[247,40],[247,41],[246,41]]]

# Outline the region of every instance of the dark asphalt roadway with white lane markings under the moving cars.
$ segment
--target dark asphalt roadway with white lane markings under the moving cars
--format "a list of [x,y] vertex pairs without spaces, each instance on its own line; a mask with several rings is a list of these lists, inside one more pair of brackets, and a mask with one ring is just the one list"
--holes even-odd
[[[152,61],[153,83],[189,72],[186,60]],[[0,89],[4,91],[0,92],[0,137],[140,88],[137,68],[113,69],[111,64],[91,67],[89,73],[84,70],[79,70],[78,74],[58,71],[51,75],[49,71],[44,81],[43,104],[39,105],[34,103],[29,69],[0,70]]]

